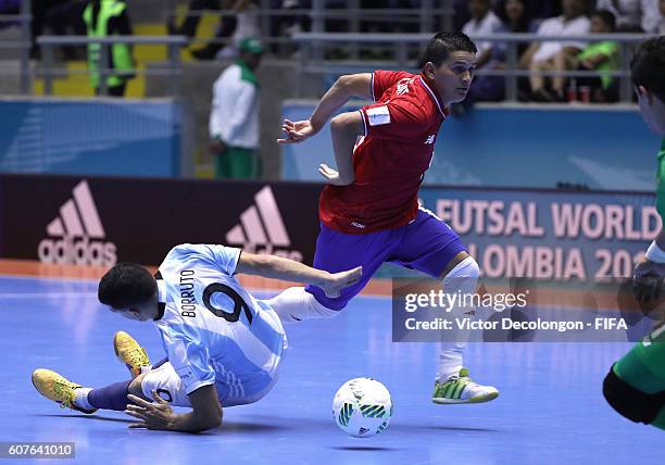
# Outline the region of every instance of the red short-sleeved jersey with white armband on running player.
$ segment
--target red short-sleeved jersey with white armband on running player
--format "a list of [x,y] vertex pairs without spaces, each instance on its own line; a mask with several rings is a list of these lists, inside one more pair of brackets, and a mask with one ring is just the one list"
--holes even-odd
[[365,135],[353,150],[355,180],[326,186],[318,214],[329,228],[367,234],[403,226],[416,217],[418,188],[448,116],[424,76],[375,71],[375,103],[360,110]]

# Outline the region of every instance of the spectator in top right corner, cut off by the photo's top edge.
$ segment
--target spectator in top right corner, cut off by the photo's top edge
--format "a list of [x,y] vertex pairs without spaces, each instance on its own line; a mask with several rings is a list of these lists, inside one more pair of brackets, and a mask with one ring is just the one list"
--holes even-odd
[[622,33],[654,33],[657,28],[658,0],[598,0],[595,8],[614,14]]

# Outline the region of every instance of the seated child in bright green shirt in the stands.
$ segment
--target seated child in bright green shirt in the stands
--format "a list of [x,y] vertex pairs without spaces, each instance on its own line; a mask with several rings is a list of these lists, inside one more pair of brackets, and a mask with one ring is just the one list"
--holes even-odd
[[[616,30],[616,20],[607,10],[597,11],[591,15],[592,34],[612,34]],[[560,66],[564,64],[563,59]],[[618,100],[618,80],[608,72],[619,67],[619,45],[613,40],[589,43],[585,50],[569,63],[569,68],[598,71],[600,77],[578,77],[577,86],[588,86],[591,101],[616,102]]]

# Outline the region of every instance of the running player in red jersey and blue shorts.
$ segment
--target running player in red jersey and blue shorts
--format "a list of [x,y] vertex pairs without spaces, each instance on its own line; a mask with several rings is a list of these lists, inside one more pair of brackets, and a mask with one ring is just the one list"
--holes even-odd
[[[286,136],[278,142],[302,142],[351,97],[374,102],[330,121],[337,169],[325,164],[318,169],[328,186],[319,200],[314,266],[334,273],[362,265],[363,276],[337,298],[315,285],[291,288],[279,297],[284,305],[317,307],[318,315],[332,316],[385,262],[441,279],[446,292],[475,292],[478,264],[455,231],[418,206],[417,194],[448,109],[465,99],[472,84],[476,51],[462,33],[437,34],[425,50],[421,74],[375,71],[341,76],[309,120],[284,122]],[[462,315],[473,307],[460,305],[454,311]],[[499,395],[495,388],[469,379],[464,345],[441,344],[434,402],[479,403]]]

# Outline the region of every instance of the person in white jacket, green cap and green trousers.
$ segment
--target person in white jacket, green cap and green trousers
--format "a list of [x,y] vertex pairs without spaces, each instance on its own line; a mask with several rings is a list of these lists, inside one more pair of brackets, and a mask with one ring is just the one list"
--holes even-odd
[[259,177],[259,67],[263,46],[253,37],[238,43],[235,64],[213,86],[210,146],[217,178]]

